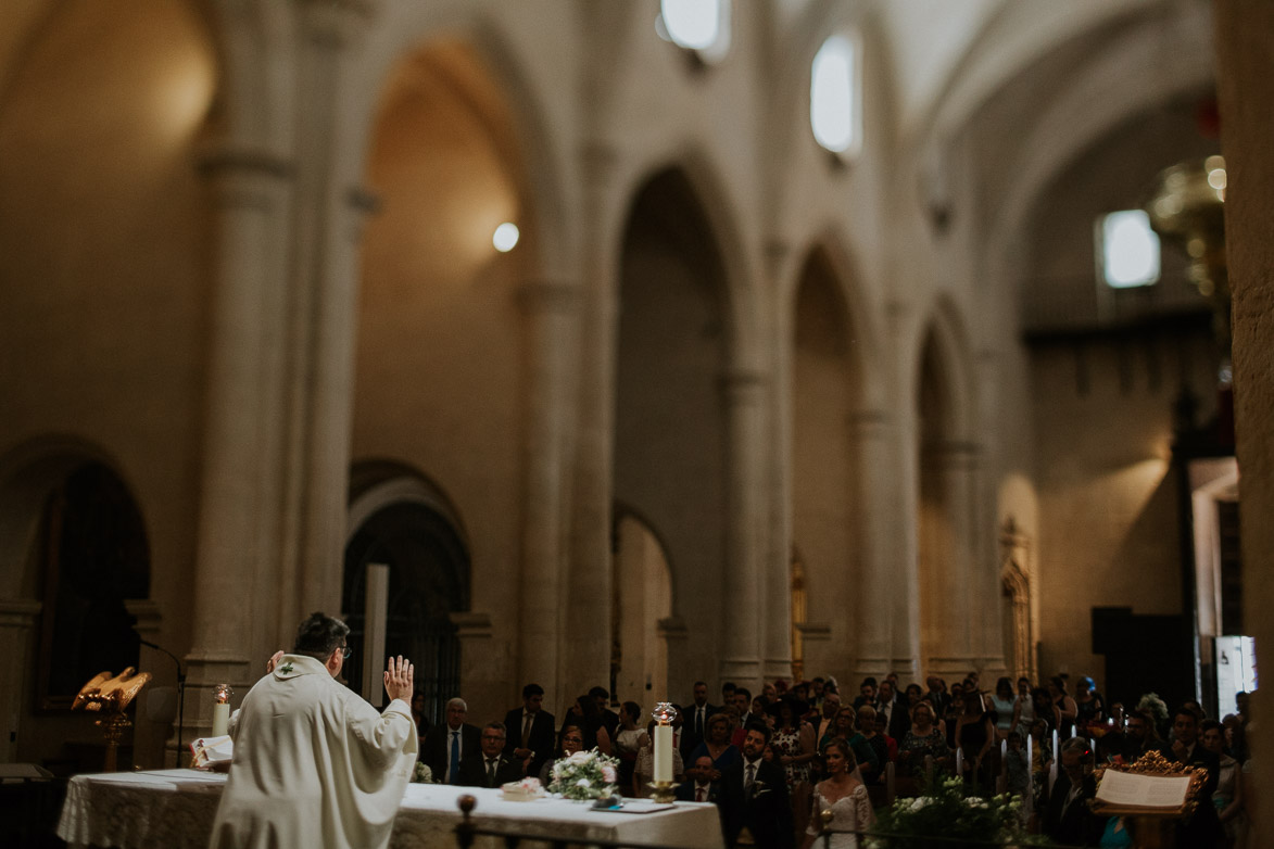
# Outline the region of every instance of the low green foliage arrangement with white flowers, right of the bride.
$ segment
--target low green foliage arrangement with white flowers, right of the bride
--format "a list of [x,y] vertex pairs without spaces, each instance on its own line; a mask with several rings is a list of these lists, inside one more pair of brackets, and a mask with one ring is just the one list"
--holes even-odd
[[[1019,812],[1022,799],[1010,793],[981,798],[964,794],[964,782],[945,778],[930,787],[926,796],[897,799],[880,815],[866,839],[869,849],[926,849],[929,838],[967,839],[1013,845],[1042,845],[1041,835],[1027,834]],[[977,844],[971,844],[977,845]]]

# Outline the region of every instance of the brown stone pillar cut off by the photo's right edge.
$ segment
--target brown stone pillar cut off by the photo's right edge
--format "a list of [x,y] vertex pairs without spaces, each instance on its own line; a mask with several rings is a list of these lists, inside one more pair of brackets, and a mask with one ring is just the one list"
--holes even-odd
[[[1274,647],[1274,4],[1217,0],[1217,89],[1220,151],[1226,157],[1226,258],[1232,297],[1235,437],[1242,491],[1243,621],[1257,652]],[[1260,798],[1274,788],[1274,690],[1252,696],[1263,731],[1254,734],[1252,779]],[[1260,812],[1249,845],[1274,841],[1274,821]]]

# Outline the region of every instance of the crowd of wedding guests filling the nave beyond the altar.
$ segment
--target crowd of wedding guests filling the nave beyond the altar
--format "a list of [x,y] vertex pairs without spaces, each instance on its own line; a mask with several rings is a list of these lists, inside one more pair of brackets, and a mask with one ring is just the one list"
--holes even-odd
[[[623,701],[612,710],[610,694],[599,686],[558,723],[543,698],[541,687],[526,685],[522,705],[482,729],[465,722],[464,700],[452,699],[446,722],[426,734],[420,759],[438,782],[499,787],[536,776],[547,787],[558,759],[596,748],[618,759],[620,793],[648,796],[648,709]],[[1131,709],[1107,705],[1092,678],[1071,686],[1064,675],[1043,686],[1001,677],[990,689],[977,672],[950,687],[930,676],[924,687],[899,689],[891,675],[865,678],[852,698],[834,678],[766,682],[755,696],[726,684],[720,701],[710,703],[707,684],[697,681],[678,705],[673,771],[679,799],[717,804],[730,846],[743,829],[755,845],[808,846],[827,816],[826,827],[841,838],[833,845],[854,846],[874,808],[894,794],[921,794],[944,775],[958,775],[975,794],[1023,797],[1031,830],[1057,843],[1131,845],[1130,822],[1098,817],[1087,804],[1096,792],[1093,769],[1150,751],[1208,769],[1210,804],[1181,826],[1178,845],[1245,846],[1246,694],[1238,714],[1220,722],[1204,717],[1198,703],[1170,713],[1154,694]]]

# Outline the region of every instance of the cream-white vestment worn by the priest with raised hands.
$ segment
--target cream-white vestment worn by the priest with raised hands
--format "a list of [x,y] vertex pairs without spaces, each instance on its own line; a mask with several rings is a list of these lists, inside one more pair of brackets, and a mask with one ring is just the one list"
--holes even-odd
[[377,713],[327,668],[284,654],[231,727],[210,849],[386,846],[415,768],[412,706]]

